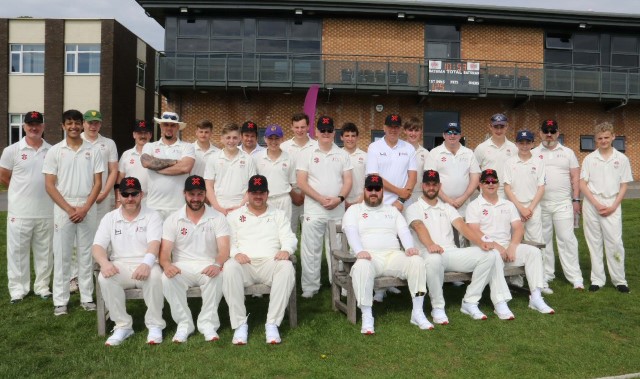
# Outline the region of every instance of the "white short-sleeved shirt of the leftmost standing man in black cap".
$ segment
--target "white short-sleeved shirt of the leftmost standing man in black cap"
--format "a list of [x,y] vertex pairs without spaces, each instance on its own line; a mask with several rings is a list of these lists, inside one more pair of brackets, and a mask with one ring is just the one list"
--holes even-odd
[[25,138],[7,146],[0,158],[0,167],[11,171],[8,190],[8,214],[18,218],[53,217],[53,201],[47,194],[42,166],[51,148],[46,141],[37,150],[27,145]]

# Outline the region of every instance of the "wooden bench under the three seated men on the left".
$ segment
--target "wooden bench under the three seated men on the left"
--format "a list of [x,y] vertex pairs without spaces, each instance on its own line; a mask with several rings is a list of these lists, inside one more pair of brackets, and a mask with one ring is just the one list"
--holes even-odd
[[[289,257],[291,263],[293,263],[293,268],[296,268],[296,256],[291,255]],[[104,298],[102,297],[102,291],[100,289],[100,282],[98,281],[98,274],[100,274],[100,267],[96,264],[96,269],[94,270],[94,275],[96,278],[96,312],[98,317],[98,335],[104,336],[106,334],[107,329],[107,319],[109,318],[109,310],[107,309]],[[248,295],[268,295],[271,293],[271,287],[265,284],[254,284],[244,288],[245,296]],[[127,300],[130,299],[144,299],[142,296],[142,289],[133,288],[124,290],[125,298]],[[201,297],[200,287],[190,287],[187,290],[187,297]],[[291,295],[289,296],[289,305],[287,305],[289,309],[289,326],[291,328],[295,328],[298,326],[298,307],[296,301],[296,283],[293,284],[293,289],[291,290]]]

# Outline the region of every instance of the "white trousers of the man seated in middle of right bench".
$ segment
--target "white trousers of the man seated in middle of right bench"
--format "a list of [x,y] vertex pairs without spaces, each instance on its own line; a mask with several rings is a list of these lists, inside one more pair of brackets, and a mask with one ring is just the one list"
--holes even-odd
[[495,270],[496,254],[493,250],[483,251],[479,247],[447,249],[442,254],[421,251],[425,261],[427,288],[431,307],[444,308],[442,285],[446,271],[472,272],[471,283],[464,295],[466,303],[478,304],[482,291],[489,283]]

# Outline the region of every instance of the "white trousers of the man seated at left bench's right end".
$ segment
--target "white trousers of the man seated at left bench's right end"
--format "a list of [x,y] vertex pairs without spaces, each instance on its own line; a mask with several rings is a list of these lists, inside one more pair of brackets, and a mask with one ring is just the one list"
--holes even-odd
[[244,305],[244,287],[265,284],[271,287],[267,324],[280,326],[289,297],[296,282],[296,272],[290,260],[252,258],[251,263],[240,264],[231,258],[224,264],[222,292],[229,305],[231,328],[236,329],[247,321]]

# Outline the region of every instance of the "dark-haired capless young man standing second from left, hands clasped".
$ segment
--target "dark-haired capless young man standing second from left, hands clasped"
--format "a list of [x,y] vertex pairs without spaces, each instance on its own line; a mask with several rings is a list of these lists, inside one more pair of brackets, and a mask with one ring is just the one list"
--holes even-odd
[[91,244],[96,232],[95,200],[102,187],[102,156],[80,136],[82,113],[73,109],[62,114],[66,137],[54,145],[44,159],[45,188],[55,203],[53,209],[53,314],[67,314],[71,253],[76,244],[78,284],[83,309],[93,311],[93,259]]

